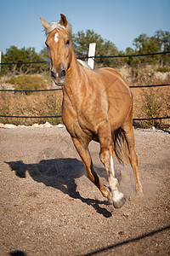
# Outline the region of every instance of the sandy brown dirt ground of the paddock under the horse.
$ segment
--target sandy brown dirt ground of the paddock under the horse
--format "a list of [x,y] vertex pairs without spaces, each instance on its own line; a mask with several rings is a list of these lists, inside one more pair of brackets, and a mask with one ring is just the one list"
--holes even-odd
[[[127,199],[117,210],[88,180],[65,128],[0,129],[0,254],[170,255],[170,132],[134,133],[144,196],[115,159]],[[99,144],[90,151],[107,184]]]

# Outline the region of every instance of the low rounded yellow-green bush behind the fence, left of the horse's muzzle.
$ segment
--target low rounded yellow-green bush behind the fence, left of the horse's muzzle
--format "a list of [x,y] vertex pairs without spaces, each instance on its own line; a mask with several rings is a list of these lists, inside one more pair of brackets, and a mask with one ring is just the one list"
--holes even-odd
[[[9,84],[14,84],[14,90],[40,90],[47,89],[47,84],[39,75],[22,75],[8,80]],[[30,91],[25,91],[30,95]]]

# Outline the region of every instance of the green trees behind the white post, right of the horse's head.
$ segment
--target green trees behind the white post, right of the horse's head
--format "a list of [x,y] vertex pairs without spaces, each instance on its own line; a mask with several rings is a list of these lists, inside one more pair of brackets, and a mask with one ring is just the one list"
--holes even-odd
[[[138,55],[146,53],[156,53],[170,50],[170,32],[157,31],[153,37],[148,37],[146,34],[139,35],[139,38],[134,38],[134,49],[127,47],[125,52],[120,52],[116,49],[115,44],[111,41],[101,38],[94,30],[80,31],[73,34],[71,38],[73,49],[77,57],[88,56],[88,47],[90,43],[96,43],[96,56],[108,55]],[[99,67],[120,67],[127,64],[133,67],[134,73],[145,65],[169,65],[169,55],[153,55],[146,57],[126,57],[126,58],[96,58],[95,64]]]

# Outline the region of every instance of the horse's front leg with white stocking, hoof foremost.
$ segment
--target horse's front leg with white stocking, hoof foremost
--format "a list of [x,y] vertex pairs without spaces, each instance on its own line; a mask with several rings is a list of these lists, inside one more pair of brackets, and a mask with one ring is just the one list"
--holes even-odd
[[111,131],[105,125],[102,126],[99,131],[99,143],[99,157],[101,162],[104,164],[105,170],[107,172],[113,206],[116,208],[121,208],[124,205],[126,199],[122,192],[120,192],[118,189],[118,181],[115,177],[113,166],[113,141],[111,138]]

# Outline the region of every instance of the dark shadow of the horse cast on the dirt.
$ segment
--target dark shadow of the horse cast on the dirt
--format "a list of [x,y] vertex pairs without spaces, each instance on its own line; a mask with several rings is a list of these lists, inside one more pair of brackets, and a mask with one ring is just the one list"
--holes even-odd
[[[85,168],[82,161],[71,158],[59,158],[40,160],[39,163],[25,164],[22,160],[6,162],[15,175],[20,178],[26,178],[26,172],[37,183],[44,183],[46,186],[51,186],[54,189],[59,189],[64,194],[69,195],[71,198],[81,200],[88,206],[94,207],[94,210],[102,214],[105,218],[111,217],[105,207],[110,203],[108,201],[99,201],[90,198],[83,198],[77,191],[76,179],[85,175]],[[105,177],[105,169],[95,166],[100,177]]]

